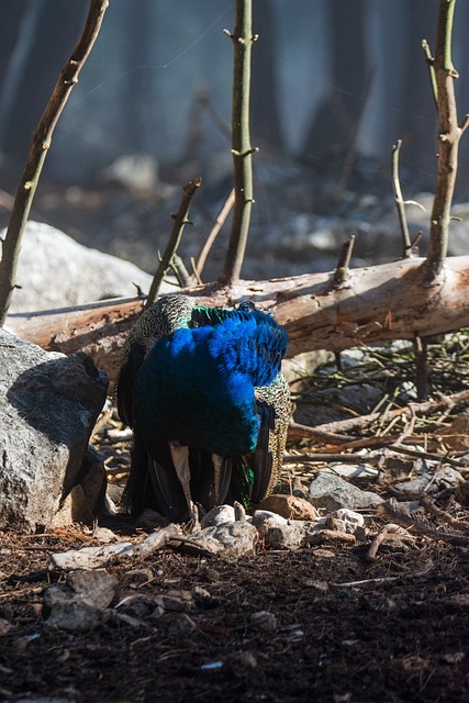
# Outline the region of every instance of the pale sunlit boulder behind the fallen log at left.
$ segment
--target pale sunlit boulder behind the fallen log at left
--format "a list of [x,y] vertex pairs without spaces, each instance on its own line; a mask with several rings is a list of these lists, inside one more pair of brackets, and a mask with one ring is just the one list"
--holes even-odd
[[13,291],[11,313],[135,295],[135,286],[146,293],[152,276],[134,264],[89,249],[48,224],[27,222],[16,283],[21,288]]

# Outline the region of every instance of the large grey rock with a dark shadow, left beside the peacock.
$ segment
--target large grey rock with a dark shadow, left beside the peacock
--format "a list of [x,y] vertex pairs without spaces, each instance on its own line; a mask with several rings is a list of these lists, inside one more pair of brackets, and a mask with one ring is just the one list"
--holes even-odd
[[98,500],[104,477],[87,448],[107,388],[86,354],[51,354],[0,331],[0,528],[51,526],[75,487],[89,491],[90,472]]

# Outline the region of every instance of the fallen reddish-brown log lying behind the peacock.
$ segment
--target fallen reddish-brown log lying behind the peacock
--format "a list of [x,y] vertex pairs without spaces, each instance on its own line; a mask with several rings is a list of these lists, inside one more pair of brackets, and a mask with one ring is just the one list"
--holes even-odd
[[[469,326],[469,256],[447,258],[442,274],[425,283],[423,258],[335,272],[306,274],[232,287],[208,283],[186,290],[201,304],[234,305],[249,299],[271,312],[290,335],[288,356],[444,334]],[[5,328],[44,349],[83,350],[115,378],[123,339],[143,299],[110,300],[77,308],[16,313]]]

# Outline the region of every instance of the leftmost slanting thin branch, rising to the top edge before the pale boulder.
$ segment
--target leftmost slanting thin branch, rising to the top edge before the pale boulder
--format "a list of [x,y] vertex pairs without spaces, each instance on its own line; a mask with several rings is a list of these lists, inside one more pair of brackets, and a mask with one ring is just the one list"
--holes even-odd
[[109,0],[90,0],[88,16],[81,36],[60,71],[47,107],[33,134],[7,234],[2,242],[2,256],[0,261],[0,326],[4,324],[11,297],[15,288],[21,239],[30,215],[41,171],[48,149],[51,148],[54,130],[74,86],[78,82],[80,70],[98,37],[108,5]]

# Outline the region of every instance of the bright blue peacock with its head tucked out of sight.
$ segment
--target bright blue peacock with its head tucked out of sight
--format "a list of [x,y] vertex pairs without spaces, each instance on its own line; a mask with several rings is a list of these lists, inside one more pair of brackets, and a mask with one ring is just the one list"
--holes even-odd
[[115,391],[134,435],[124,492],[133,514],[153,507],[185,522],[194,504],[250,506],[272,491],[291,414],[287,344],[252,303],[209,308],[178,293],[141,315]]

